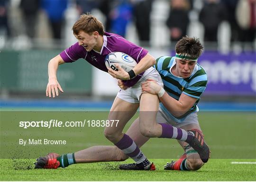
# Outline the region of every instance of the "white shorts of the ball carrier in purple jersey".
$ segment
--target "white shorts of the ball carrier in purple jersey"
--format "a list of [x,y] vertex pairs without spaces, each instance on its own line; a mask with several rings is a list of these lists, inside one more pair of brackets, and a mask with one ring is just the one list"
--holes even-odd
[[145,82],[146,79],[148,78],[155,79],[155,81],[159,85],[161,85],[161,87],[164,86],[162,78],[159,75],[158,71],[155,68],[150,67],[145,71],[143,76],[138,80],[138,82],[134,86],[128,87],[126,90],[120,90],[117,94],[117,97],[128,103],[139,103],[140,96],[142,94],[141,84]]

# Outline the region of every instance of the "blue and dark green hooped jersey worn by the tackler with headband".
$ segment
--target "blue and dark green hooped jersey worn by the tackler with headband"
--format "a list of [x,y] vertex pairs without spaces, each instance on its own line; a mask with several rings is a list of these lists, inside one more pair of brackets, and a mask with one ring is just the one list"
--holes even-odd
[[168,93],[168,95],[172,96],[176,100],[179,100],[182,93],[197,98],[197,101],[190,108],[190,110],[180,117],[174,117],[165,108],[165,106],[160,103],[160,108],[165,113],[167,113],[167,115],[169,115],[176,122],[182,122],[189,114],[199,111],[197,103],[199,102],[200,96],[206,88],[207,74],[203,67],[201,67],[199,64],[196,64],[189,78],[174,76],[170,70],[174,67],[175,64],[175,57],[162,56],[156,59],[156,64],[154,65],[154,68],[161,75],[164,83],[164,89]]

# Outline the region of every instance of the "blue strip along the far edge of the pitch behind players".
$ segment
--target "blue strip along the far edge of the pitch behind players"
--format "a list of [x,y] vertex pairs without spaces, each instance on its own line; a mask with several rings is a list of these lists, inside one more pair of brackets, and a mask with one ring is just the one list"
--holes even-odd
[[[48,101],[48,100],[1,100],[0,108],[73,108],[110,110],[113,101]],[[256,103],[201,102],[200,111],[245,111],[256,112]]]

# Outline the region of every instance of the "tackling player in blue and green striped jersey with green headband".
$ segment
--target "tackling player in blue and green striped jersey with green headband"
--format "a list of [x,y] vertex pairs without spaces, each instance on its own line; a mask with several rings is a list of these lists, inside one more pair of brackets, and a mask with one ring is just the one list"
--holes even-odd
[[[175,47],[175,57],[163,56],[156,60],[155,69],[162,77],[164,88],[155,80],[142,84],[142,90],[157,94],[160,100],[156,121],[184,130],[201,132],[197,104],[207,84],[205,70],[197,63],[203,47],[199,39],[183,37]],[[203,138],[199,139],[201,142]],[[203,165],[197,152],[186,142],[177,140],[185,153],[176,162],[167,163],[165,169],[198,170]]]

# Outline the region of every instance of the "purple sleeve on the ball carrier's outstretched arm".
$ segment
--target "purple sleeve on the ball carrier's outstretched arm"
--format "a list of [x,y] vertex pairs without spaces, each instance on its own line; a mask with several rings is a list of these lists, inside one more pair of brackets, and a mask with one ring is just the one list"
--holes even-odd
[[74,62],[80,58],[85,58],[85,49],[77,43],[60,53],[60,56],[65,62]]

